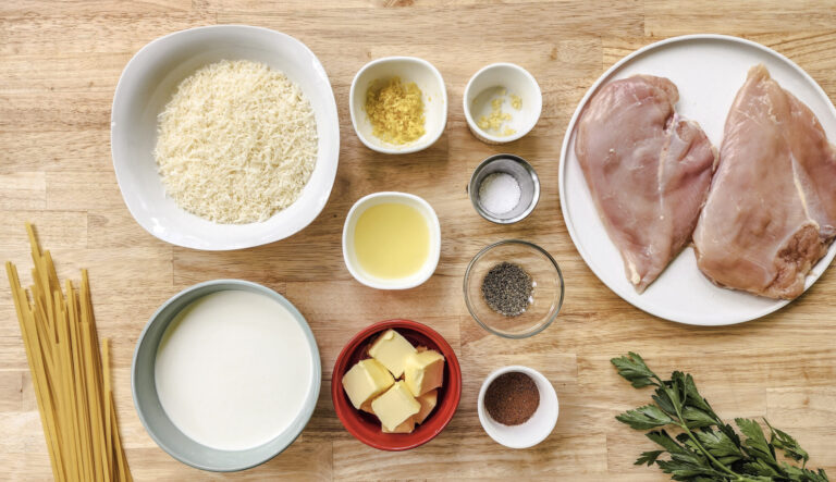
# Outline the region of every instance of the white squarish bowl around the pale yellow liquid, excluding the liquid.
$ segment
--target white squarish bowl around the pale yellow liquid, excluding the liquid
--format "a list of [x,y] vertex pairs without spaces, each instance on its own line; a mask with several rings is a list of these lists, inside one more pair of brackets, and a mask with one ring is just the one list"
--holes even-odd
[[[357,261],[357,255],[354,251],[354,230],[357,226],[357,220],[367,209],[383,202],[402,202],[411,206],[423,214],[427,224],[430,227],[430,254],[421,269],[411,276],[397,280],[377,277],[367,273]],[[439,217],[435,214],[435,210],[432,209],[432,206],[418,196],[393,191],[370,194],[355,202],[348,211],[348,215],[345,218],[345,224],[343,225],[343,259],[345,260],[345,265],[348,268],[348,272],[352,273],[352,276],[366,286],[378,289],[414,288],[432,276],[432,273],[435,272],[435,268],[439,265],[440,256],[441,224],[439,223]]]

